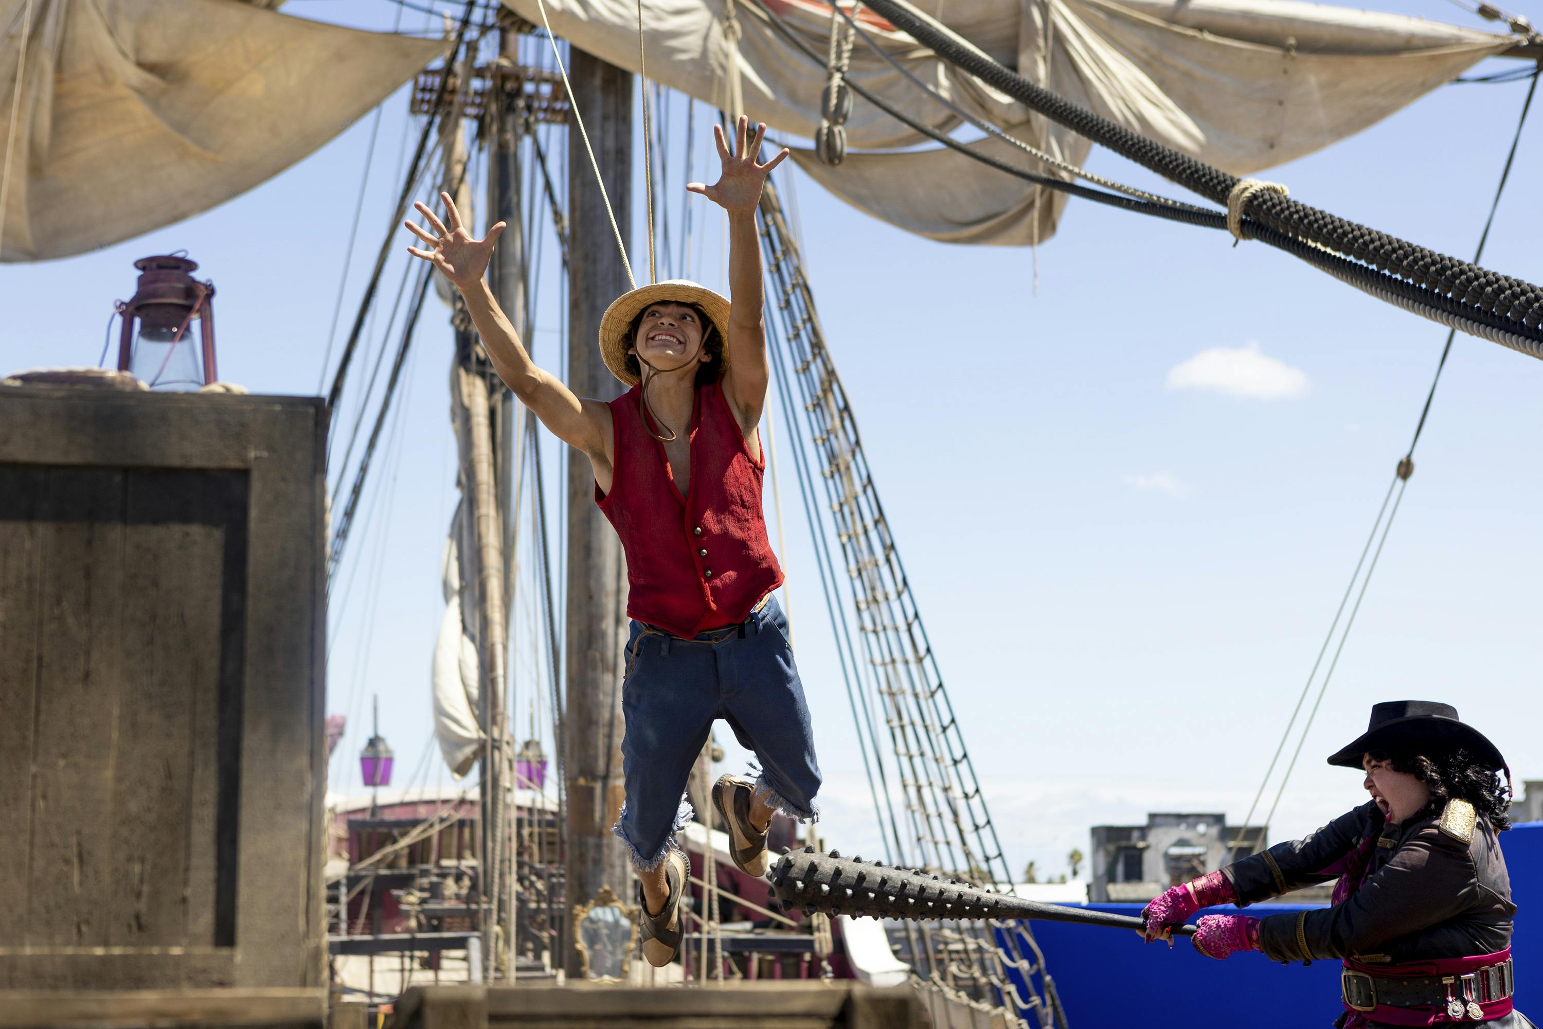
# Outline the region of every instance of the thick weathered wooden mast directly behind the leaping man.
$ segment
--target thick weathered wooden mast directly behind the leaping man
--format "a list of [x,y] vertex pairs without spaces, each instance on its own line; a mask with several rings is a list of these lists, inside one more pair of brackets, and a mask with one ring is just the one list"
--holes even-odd
[[[572,49],[572,103],[585,117],[611,210],[630,238],[633,184],[633,76]],[[600,359],[600,316],[628,290],[611,219],[577,127],[568,133],[568,386],[580,396],[613,400],[622,384]],[[631,896],[626,849],[611,835],[622,807],[622,648],[626,643],[626,568],[622,546],[594,504],[589,458],[568,452],[568,904],[602,886]],[[580,975],[568,941],[568,975]]]

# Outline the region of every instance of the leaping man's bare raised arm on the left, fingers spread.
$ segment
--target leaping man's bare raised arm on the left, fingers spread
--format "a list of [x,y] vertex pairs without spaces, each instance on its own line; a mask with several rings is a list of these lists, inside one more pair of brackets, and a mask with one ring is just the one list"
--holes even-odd
[[472,239],[461,225],[460,211],[447,193],[441,193],[449,227],[424,204],[414,207],[423,214],[434,233],[407,222],[407,228],[429,245],[429,250],[407,247],[414,256],[434,264],[466,299],[466,310],[477,326],[483,349],[497,369],[498,376],[514,390],[552,435],[591,457],[606,458],[611,441],[611,412],[600,401],[580,400],[557,376],[535,366],[520,342],[520,333],[508,315],[498,307],[483,273],[492,256],[494,244],[503,234],[505,224],[489,227],[488,236]]

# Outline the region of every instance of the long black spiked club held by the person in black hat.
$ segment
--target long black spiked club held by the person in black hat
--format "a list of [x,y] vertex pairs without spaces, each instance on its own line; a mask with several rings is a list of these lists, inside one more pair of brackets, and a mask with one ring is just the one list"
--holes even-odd
[[[832,916],[930,921],[1023,918],[1142,930],[1140,918],[1040,904],[1021,896],[992,893],[960,879],[895,869],[883,861],[842,858],[836,850],[816,853],[810,847],[782,855],[772,869],[772,892],[784,910],[802,909],[805,915],[829,912]],[[1176,936],[1193,936],[1194,926],[1180,926],[1173,932]]]

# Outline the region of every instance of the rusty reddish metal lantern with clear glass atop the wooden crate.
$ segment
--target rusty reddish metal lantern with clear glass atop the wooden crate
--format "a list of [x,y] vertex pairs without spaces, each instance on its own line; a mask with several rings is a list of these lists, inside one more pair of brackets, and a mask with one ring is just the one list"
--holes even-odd
[[[196,261],[179,255],[140,258],[134,298],[119,304],[123,332],[117,344],[119,372],[157,390],[198,390],[219,380],[214,369],[213,282],[193,278]],[[198,319],[199,342],[191,326]]]

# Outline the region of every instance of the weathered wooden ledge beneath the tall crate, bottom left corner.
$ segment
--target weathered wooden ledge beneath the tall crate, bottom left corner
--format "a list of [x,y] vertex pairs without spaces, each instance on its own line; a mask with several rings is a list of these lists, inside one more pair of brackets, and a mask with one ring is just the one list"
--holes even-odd
[[0,1029],[324,1029],[312,989],[0,990]]

